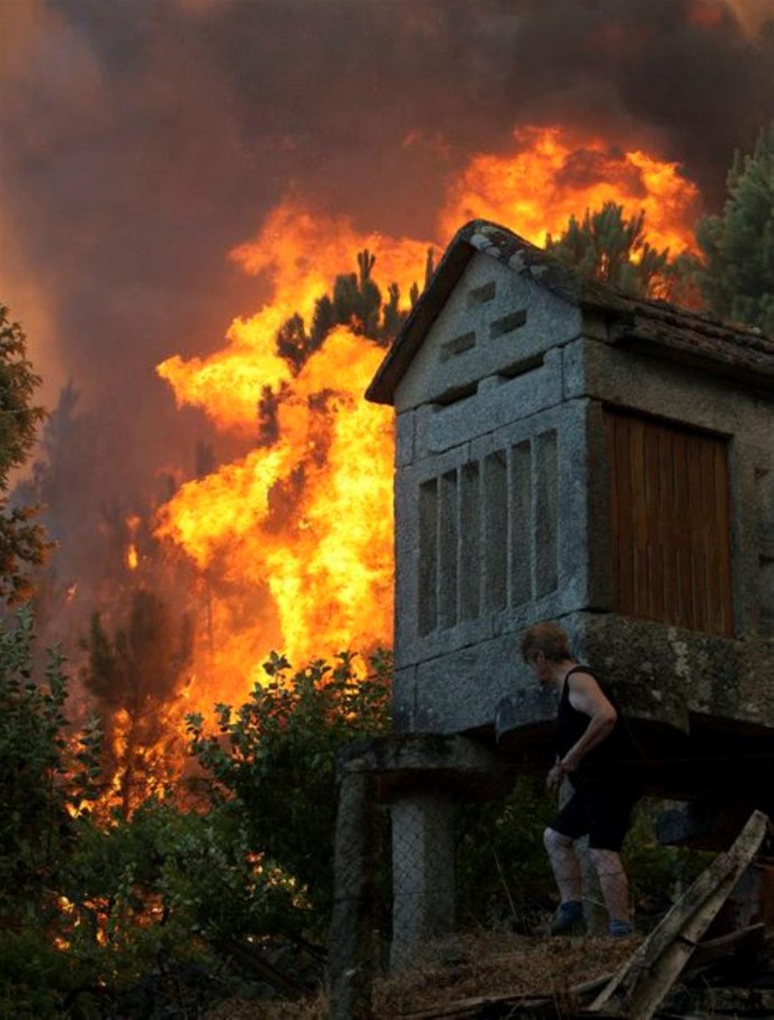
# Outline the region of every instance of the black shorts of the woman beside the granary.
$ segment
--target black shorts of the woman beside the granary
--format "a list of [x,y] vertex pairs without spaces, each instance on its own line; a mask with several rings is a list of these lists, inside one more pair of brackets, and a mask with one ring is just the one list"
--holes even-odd
[[620,851],[629,827],[631,809],[639,797],[638,786],[581,783],[551,827],[570,839],[579,839],[588,833],[588,846],[594,850]]

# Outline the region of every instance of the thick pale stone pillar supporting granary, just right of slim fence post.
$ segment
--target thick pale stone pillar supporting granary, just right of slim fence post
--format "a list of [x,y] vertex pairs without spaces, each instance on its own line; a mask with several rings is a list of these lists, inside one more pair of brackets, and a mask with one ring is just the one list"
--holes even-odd
[[447,797],[414,794],[393,813],[393,947],[391,968],[416,959],[430,938],[454,927],[454,805]]

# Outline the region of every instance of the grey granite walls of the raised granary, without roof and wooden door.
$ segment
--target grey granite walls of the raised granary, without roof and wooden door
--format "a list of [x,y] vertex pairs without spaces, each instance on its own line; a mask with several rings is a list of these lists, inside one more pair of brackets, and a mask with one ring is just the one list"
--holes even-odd
[[[774,724],[771,395],[610,340],[604,313],[477,253],[401,379],[396,728],[489,726],[514,694],[551,718],[518,656],[544,618],[643,718]],[[733,641],[611,612],[608,405],[727,438]]]

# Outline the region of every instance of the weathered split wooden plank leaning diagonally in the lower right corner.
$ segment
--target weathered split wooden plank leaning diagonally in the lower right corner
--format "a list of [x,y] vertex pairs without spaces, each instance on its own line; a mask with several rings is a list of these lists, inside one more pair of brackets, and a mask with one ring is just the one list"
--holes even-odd
[[[614,996],[623,993],[638,1010],[626,1010],[630,1020],[648,1020],[653,1016],[689,959],[694,944],[758,853],[768,824],[769,820],[763,812],[753,812],[730,850],[719,854],[672,906],[646,941],[595,999],[588,1013],[601,1012]],[[689,952],[684,955],[682,950]]]

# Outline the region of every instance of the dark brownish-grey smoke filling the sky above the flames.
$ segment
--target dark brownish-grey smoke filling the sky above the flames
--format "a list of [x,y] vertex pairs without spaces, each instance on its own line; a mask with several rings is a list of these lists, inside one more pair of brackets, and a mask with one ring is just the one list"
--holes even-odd
[[[289,191],[430,237],[471,153],[559,121],[678,160],[713,208],[734,147],[774,109],[771,27],[754,12],[743,29],[722,0],[16,0],[3,14],[4,300],[49,404],[71,377],[92,415],[82,530],[159,470],[193,474],[198,441],[223,455],[153,366],[208,353],[255,310],[260,280],[226,253]],[[93,549],[84,561],[70,550],[67,571],[99,568]]]

